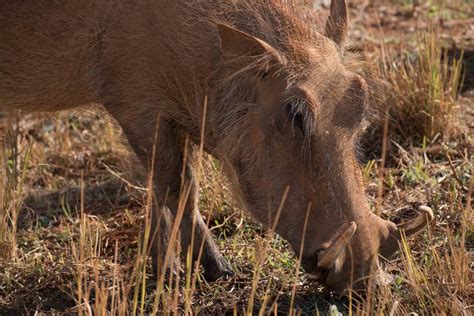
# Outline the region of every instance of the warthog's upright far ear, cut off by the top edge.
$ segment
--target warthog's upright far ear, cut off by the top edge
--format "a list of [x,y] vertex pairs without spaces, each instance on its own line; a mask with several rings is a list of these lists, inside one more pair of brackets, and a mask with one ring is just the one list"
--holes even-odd
[[326,36],[337,46],[342,47],[347,37],[347,3],[345,0],[332,0],[329,18],[326,22]]

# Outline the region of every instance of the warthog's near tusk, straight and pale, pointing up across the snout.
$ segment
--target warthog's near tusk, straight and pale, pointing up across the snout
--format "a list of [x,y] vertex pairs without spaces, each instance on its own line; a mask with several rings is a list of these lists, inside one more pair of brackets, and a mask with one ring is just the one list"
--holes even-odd
[[329,270],[336,263],[337,258],[351,241],[357,229],[355,222],[350,222],[341,230],[328,248],[318,255],[318,268]]

